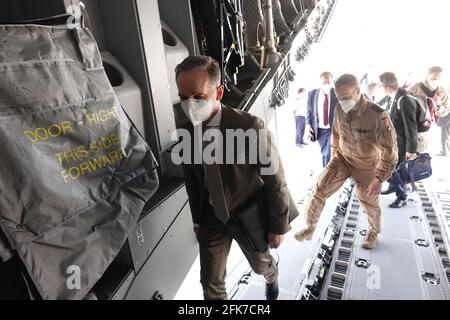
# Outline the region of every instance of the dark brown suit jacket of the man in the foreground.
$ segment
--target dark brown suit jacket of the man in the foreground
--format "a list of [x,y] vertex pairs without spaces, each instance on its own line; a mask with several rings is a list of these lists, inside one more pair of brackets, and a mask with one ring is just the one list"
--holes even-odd
[[[222,108],[220,127],[224,136],[224,146],[227,145],[226,129],[243,129],[245,131],[251,128],[256,130],[265,128],[260,118],[226,106]],[[186,126],[186,129],[191,134],[194,130],[190,123]],[[267,141],[262,143],[267,143],[267,150],[270,151],[270,135]],[[250,148],[254,147],[246,144],[246,157]],[[260,174],[263,165],[259,161],[259,156],[258,164],[248,164],[248,161],[246,161],[246,164],[222,164],[220,165],[220,172],[230,215],[238,214],[239,208],[254,199],[260,192],[266,192],[268,204],[266,212],[268,216],[265,217],[265,220],[268,222],[268,231],[273,234],[285,234],[290,230],[289,191],[279,154],[276,150],[272,151],[269,158],[271,161],[279,162],[279,170],[274,175]],[[226,159],[226,153],[227,151],[224,150],[224,159]],[[209,204],[208,190],[204,184],[203,166],[201,164],[184,164],[183,170],[193,222],[202,225],[204,216],[213,212]]]

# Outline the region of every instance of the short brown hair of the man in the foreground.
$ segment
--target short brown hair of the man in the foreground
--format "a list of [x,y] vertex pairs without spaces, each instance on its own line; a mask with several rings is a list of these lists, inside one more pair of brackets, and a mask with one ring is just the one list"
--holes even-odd
[[197,69],[206,71],[211,83],[217,86],[220,85],[221,72],[219,63],[208,56],[187,57],[179,65],[176,66],[175,77],[178,78],[178,76],[183,72],[190,72]]

